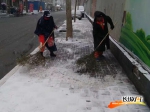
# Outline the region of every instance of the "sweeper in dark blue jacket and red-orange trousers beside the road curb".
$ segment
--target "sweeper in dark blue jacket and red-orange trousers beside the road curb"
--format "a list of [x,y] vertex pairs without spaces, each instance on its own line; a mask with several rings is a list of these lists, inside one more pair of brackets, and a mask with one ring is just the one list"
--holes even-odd
[[47,49],[50,51],[50,56],[56,57],[56,54],[54,54],[54,51],[57,51],[55,43],[53,46],[49,46],[47,41],[44,45],[45,41],[50,36],[52,36],[54,40],[54,29],[57,29],[57,26],[54,23],[53,17],[51,16],[49,11],[44,11],[43,16],[37,22],[36,30],[34,32],[36,35],[39,36],[40,53],[42,56],[46,46]]

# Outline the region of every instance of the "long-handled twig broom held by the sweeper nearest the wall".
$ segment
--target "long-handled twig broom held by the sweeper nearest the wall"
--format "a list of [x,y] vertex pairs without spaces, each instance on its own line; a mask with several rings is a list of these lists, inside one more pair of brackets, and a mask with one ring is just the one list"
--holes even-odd
[[[116,26],[117,23],[115,23]],[[103,41],[106,39],[106,37],[109,35],[109,33],[112,30],[110,30],[105,37],[102,39],[102,41],[99,43],[99,45],[95,48],[95,50],[89,54],[89,55],[85,55],[84,57],[79,58],[76,61],[77,64],[77,72],[80,73],[97,73],[99,72],[99,68],[98,68],[98,63],[94,58],[94,52],[98,49],[98,47],[103,43]]]

